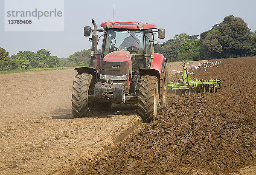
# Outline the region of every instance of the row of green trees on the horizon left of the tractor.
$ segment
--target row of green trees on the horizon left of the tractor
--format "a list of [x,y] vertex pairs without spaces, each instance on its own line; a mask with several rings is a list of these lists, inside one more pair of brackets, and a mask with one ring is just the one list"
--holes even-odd
[[0,48],[0,71],[26,69],[26,68],[58,68],[72,66],[88,66],[90,62],[90,49],[75,52],[68,58],[51,56],[50,51],[41,49],[39,51],[19,51],[9,56],[4,48]]

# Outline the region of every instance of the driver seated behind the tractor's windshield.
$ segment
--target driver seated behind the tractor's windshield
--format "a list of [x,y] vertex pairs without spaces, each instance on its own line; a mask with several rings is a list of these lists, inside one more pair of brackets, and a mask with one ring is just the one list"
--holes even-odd
[[128,48],[128,51],[130,52],[137,52],[140,48],[140,40],[135,37],[136,32],[135,31],[130,31],[130,36],[125,38],[125,40],[122,42],[120,45],[120,49],[126,50]]

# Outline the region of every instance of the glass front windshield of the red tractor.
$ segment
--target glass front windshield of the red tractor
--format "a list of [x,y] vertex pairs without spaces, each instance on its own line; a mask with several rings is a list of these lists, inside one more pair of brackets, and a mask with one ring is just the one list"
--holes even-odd
[[127,29],[108,30],[105,38],[104,53],[102,54],[103,56],[106,56],[107,54],[118,50],[126,50],[131,53],[133,69],[143,68],[143,31],[129,31]]

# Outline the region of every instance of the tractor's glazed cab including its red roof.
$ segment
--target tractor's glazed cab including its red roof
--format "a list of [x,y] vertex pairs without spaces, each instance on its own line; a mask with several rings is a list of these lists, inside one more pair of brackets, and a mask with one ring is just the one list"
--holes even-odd
[[157,43],[153,34],[153,29],[157,28],[155,24],[111,22],[102,23],[101,27],[105,29],[101,59],[114,51],[128,51],[131,54],[133,72],[151,67],[154,43]]

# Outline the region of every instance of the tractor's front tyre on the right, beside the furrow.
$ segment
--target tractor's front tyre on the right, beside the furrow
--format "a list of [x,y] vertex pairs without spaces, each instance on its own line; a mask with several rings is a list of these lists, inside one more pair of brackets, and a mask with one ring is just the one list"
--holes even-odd
[[145,75],[140,79],[138,111],[143,122],[150,122],[157,116],[157,77]]

